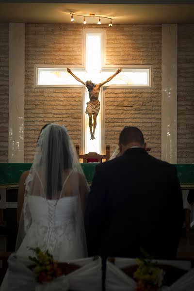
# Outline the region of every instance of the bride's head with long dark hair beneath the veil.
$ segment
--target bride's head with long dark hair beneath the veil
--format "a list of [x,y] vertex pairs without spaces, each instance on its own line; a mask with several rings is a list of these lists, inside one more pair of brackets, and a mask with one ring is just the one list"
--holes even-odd
[[41,146],[40,164],[45,170],[46,192],[50,199],[53,189],[57,188],[58,191],[62,189],[64,171],[73,168],[75,163],[73,146],[65,127],[52,123],[42,130],[38,142]]

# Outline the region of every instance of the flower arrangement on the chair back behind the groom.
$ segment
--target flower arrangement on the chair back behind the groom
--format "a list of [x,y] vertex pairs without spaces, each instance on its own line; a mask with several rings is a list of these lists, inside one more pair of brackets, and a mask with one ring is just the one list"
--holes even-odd
[[144,258],[138,258],[138,268],[133,273],[137,281],[136,291],[158,291],[162,287],[165,272],[157,267],[152,258],[142,250]]

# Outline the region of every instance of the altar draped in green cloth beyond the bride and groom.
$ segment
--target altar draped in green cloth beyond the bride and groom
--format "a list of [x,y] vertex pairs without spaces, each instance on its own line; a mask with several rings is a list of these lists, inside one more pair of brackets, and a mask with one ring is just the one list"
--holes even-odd
[[[19,178],[32,163],[0,163],[0,210],[6,221],[5,235],[7,251],[15,248],[17,234],[17,189]],[[97,163],[81,163],[83,173],[91,185]],[[194,164],[175,164],[182,190],[194,189]]]

